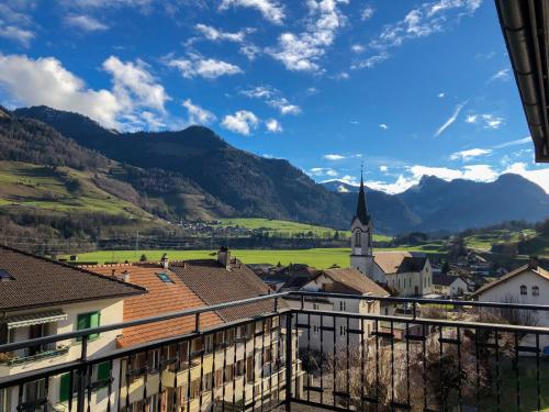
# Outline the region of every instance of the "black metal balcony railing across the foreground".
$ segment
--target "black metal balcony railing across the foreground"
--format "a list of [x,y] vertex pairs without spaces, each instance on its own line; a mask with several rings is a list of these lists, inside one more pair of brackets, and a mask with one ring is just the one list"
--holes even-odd
[[[391,314],[368,313],[369,304],[314,310],[318,298],[379,302]],[[273,311],[200,327],[202,313],[260,300]],[[90,335],[184,316],[194,332],[88,356]],[[277,293],[1,345],[82,342],[78,359],[0,377],[0,411],[540,411],[549,408],[548,320],[546,305]]]

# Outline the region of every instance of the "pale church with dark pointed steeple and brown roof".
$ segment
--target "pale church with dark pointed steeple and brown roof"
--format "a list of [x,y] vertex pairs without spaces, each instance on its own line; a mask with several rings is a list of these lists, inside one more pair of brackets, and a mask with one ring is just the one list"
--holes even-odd
[[351,222],[350,267],[399,297],[432,293],[433,269],[425,254],[373,252],[373,222],[368,212],[362,176]]

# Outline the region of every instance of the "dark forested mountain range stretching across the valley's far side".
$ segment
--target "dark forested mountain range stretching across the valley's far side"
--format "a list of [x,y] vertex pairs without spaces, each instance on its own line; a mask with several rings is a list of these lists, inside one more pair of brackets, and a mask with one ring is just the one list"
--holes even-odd
[[[0,160],[85,170],[98,193],[152,219],[250,216],[348,229],[356,207],[354,186],[316,183],[288,160],[238,149],[203,126],[121,133],[47,107],[0,109]],[[376,230],[384,234],[549,215],[549,196],[518,175],[494,182],[423,177],[399,194],[367,193]]]

